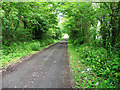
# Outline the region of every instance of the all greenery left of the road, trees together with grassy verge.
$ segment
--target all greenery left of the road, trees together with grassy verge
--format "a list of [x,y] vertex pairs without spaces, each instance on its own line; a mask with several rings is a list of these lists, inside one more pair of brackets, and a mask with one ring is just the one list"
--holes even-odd
[[2,2],[3,66],[61,38],[56,7],[52,2]]

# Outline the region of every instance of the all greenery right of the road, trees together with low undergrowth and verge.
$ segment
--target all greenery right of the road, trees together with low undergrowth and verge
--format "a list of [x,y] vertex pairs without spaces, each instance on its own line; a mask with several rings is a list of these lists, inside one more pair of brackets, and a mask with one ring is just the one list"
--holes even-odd
[[[70,57],[74,57],[71,65],[76,88],[119,87],[120,2],[66,2],[63,9],[66,16],[62,25],[73,45],[69,52]],[[84,66],[91,70],[81,74]],[[88,79],[89,73],[94,73],[98,79],[92,76],[92,80]]]

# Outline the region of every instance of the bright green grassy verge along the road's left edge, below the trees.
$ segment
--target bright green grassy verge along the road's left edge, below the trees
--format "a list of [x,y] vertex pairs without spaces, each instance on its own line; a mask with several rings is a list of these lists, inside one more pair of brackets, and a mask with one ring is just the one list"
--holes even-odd
[[29,41],[29,42],[19,42],[13,43],[9,47],[2,46],[2,56],[0,60],[0,68],[5,68],[6,66],[19,62],[24,56],[29,56],[42,50],[49,45],[58,42],[59,40],[47,39],[42,41]]

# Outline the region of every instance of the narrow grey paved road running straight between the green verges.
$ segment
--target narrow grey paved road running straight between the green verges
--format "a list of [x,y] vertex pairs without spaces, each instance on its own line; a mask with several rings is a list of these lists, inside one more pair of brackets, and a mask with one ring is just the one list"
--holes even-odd
[[35,55],[17,66],[17,70],[3,73],[3,88],[69,88],[70,70],[67,40]]

